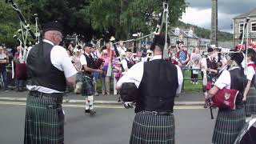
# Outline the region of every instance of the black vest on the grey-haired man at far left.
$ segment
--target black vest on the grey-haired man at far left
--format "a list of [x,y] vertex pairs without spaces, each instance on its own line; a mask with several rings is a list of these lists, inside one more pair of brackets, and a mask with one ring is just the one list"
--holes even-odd
[[43,42],[43,50],[39,52],[39,49],[42,49],[40,45],[34,46],[28,54],[26,62],[27,84],[65,91],[66,78],[64,72],[58,70],[50,62],[50,51],[54,46],[50,43]]

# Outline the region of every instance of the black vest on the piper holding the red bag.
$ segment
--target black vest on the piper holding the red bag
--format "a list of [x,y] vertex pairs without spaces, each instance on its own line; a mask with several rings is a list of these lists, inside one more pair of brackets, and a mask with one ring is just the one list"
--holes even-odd
[[230,78],[231,78],[230,89],[239,90],[238,96],[235,101],[235,105],[239,109],[243,107],[242,98],[243,98],[243,92],[246,86],[246,77],[243,74],[243,70],[234,69],[229,71],[230,71]]

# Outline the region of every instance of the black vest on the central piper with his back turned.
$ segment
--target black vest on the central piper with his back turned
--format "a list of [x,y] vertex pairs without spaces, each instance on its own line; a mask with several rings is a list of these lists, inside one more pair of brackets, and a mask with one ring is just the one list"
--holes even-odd
[[177,88],[175,65],[162,59],[145,62],[135,113],[142,110],[173,112]]

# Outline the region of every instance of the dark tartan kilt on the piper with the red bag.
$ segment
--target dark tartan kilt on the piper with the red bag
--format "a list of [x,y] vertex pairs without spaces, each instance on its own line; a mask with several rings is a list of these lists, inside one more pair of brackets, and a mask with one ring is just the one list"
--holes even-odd
[[245,109],[218,110],[212,142],[233,144],[240,130],[246,124]]

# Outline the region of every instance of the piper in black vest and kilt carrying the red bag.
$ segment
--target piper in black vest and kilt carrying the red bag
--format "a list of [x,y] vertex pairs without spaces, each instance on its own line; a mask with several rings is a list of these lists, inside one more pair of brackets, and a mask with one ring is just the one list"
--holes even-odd
[[241,62],[243,60],[242,53],[230,54],[228,63],[229,70],[223,70],[214,86],[208,91],[206,100],[213,98],[218,90],[233,89],[239,93],[235,100],[235,110],[219,109],[214,126],[214,134],[212,142],[214,144],[233,144],[238,137],[240,130],[246,123],[246,114],[242,102],[242,94],[245,90],[245,75]]

